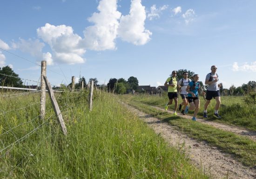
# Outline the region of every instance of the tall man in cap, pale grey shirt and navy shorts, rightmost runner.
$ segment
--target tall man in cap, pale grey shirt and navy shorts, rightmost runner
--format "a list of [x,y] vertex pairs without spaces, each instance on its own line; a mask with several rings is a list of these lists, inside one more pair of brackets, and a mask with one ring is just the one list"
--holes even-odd
[[207,116],[207,107],[209,103],[211,102],[212,98],[215,98],[216,100],[216,105],[215,105],[215,111],[213,116],[215,118],[220,119],[221,116],[219,116],[218,111],[221,106],[221,95],[220,95],[220,89],[221,84],[218,84],[218,74],[216,73],[217,67],[215,65],[211,66],[211,73],[208,73],[206,75],[205,79],[205,85],[208,85],[207,91],[206,91],[206,102],[204,104],[204,111],[203,111],[203,117],[208,118]]

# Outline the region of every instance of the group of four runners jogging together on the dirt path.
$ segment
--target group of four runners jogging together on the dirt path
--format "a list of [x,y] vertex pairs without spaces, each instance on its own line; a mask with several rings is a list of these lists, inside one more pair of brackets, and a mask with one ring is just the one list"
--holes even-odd
[[[218,74],[216,73],[217,67],[215,65],[211,66],[211,73],[206,75],[205,85],[208,85],[206,91],[206,102],[204,104],[203,117],[208,118],[207,108],[212,98],[216,99],[215,112],[213,116],[215,118],[221,118],[218,114],[218,110],[221,105],[220,97],[220,84],[218,84]],[[179,105],[179,110],[183,115],[187,114],[189,110],[194,111],[192,120],[196,121],[196,115],[199,111],[200,100],[199,93],[205,96],[205,92],[202,90],[202,86],[199,83],[199,75],[195,74],[193,80],[188,78],[189,73],[184,72],[183,78],[178,81],[177,71],[173,71],[170,77],[164,83],[164,86],[168,86],[168,98],[169,101],[165,105],[165,110],[168,110],[168,106],[175,102],[174,113],[177,115],[176,111],[178,108],[178,91],[182,97],[182,103]]]

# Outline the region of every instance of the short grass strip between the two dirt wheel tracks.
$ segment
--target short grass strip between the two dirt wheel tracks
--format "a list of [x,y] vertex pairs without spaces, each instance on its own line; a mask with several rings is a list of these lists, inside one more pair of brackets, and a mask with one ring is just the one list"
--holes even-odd
[[[224,152],[235,155],[244,165],[256,166],[255,141],[206,124],[182,119],[182,116],[173,116],[168,112],[157,110],[152,106],[157,106],[157,104],[159,104],[158,102],[161,100],[160,97],[122,95],[120,98],[140,111],[150,114],[158,119],[168,121],[172,126],[177,126],[183,133],[186,133],[194,139],[207,141],[210,145],[217,146]],[[223,118],[224,117],[225,116],[223,115]]]

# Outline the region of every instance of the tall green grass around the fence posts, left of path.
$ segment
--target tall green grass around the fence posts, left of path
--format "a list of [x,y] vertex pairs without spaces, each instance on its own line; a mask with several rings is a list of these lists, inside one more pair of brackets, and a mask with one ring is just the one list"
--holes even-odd
[[[6,95],[1,93],[1,95]],[[12,95],[12,94],[11,94]],[[0,98],[0,178],[8,179],[208,179],[115,96],[58,95],[67,136],[47,99],[39,119],[38,93]]]

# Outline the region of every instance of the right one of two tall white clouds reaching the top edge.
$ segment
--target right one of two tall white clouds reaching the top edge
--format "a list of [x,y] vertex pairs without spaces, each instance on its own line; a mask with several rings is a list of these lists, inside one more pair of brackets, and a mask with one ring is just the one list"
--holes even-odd
[[145,7],[141,5],[141,0],[132,0],[129,14],[121,16],[118,36],[135,45],[146,44],[152,33],[145,29],[145,20],[146,12]]

